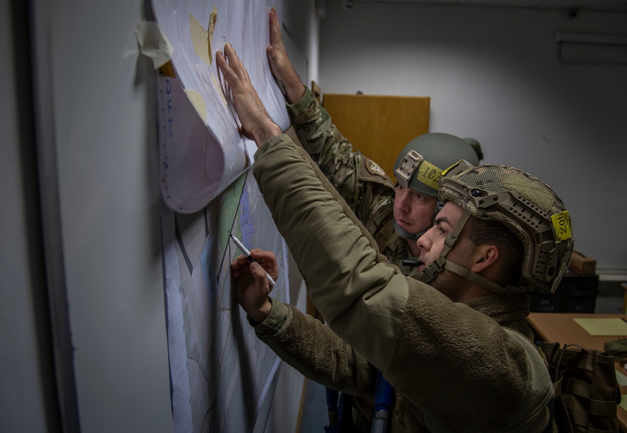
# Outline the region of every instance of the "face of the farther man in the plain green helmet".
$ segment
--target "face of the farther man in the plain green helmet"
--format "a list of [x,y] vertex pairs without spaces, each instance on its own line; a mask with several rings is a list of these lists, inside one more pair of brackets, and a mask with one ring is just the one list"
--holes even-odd
[[403,185],[396,187],[394,197],[394,219],[396,224],[410,233],[418,233],[431,226],[433,212],[438,201],[424,196]]

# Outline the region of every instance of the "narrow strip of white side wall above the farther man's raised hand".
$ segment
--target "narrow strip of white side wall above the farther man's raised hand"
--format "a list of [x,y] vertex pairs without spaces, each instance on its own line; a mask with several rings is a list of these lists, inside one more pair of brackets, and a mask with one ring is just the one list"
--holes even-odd
[[[308,80],[318,81],[320,19],[315,11],[315,0],[283,0],[283,23],[294,37],[298,48],[308,60]],[[285,38],[285,34],[283,34]],[[301,77],[303,78],[303,77]],[[307,87],[311,82],[305,83]]]

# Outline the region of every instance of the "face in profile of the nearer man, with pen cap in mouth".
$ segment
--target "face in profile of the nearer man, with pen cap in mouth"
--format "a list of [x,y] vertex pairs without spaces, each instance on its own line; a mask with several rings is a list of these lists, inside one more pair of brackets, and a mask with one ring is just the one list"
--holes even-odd
[[431,229],[418,239],[420,261],[424,263],[418,267],[418,272],[422,272],[426,266],[440,257],[440,253],[444,247],[444,240],[446,236],[453,231],[462,213],[463,209],[461,209],[460,206],[457,206],[453,202],[447,202],[440,213],[438,213],[435,226],[431,227]]

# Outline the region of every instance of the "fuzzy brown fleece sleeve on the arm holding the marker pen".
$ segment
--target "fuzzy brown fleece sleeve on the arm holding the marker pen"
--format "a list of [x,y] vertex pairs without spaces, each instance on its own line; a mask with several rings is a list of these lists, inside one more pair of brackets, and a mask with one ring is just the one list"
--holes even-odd
[[270,315],[255,332],[283,361],[315,382],[350,395],[374,396],[377,369],[329,326],[295,306],[273,300]]

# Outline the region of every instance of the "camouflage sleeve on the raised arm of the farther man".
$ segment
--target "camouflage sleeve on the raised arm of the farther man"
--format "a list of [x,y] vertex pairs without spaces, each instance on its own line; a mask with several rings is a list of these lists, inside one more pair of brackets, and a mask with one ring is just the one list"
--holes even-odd
[[[331,122],[327,110],[310,90],[293,105],[287,105],[292,126],[303,148],[337,189],[353,212],[359,204],[359,164],[361,152]],[[362,219],[361,215],[358,215]]]

